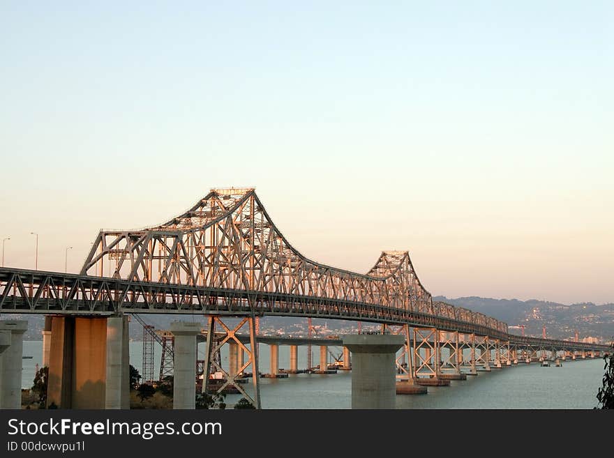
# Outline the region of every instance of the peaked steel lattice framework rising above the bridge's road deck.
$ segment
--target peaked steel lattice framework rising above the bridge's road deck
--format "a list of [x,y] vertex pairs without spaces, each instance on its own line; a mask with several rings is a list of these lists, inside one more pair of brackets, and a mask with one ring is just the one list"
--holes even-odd
[[[110,263],[110,264],[107,264]],[[373,304],[467,321],[507,333],[491,317],[433,303],[406,251],[382,252],[366,274],[304,257],[283,236],[255,190],[211,190],[193,207],[154,227],[100,231],[82,275]]]

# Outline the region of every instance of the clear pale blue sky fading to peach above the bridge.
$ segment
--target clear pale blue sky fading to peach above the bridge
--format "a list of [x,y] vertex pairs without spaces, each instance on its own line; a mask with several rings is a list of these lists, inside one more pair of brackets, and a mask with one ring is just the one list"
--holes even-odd
[[614,2],[0,0],[7,266],[254,186],[312,259],[614,301]]

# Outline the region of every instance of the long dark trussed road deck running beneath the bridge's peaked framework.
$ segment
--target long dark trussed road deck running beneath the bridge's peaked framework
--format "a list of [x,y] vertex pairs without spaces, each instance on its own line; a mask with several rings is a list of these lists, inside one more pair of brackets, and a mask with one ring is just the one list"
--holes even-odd
[[608,351],[607,345],[509,334],[479,323],[352,300],[245,289],[130,282],[18,268],[0,268],[0,313],[69,316],[201,314],[297,316],[409,325],[488,336],[521,346],[569,351]]

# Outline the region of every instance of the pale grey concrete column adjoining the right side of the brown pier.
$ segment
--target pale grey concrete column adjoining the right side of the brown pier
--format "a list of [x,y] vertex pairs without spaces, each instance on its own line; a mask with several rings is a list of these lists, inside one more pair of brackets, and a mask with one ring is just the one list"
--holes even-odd
[[128,316],[107,318],[105,409],[130,409]]

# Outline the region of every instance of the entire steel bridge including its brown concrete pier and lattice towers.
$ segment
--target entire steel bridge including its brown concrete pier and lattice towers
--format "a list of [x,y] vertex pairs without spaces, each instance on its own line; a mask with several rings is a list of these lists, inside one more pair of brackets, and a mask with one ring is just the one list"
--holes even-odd
[[[308,259],[276,227],[253,188],[211,190],[184,213],[151,227],[101,230],[79,274],[0,268],[0,313],[48,317],[48,399],[68,407],[126,406],[128,314],[207,316],[206,332],[225,337],[207,340],[204,389],[211,372],[223,372],[226,384],[257,407],[258,377],[251,394],[239,377],[247,367],[258,373],[255,342],[262,316],[380,323],[382,333],[405,337],[397,365],[407,383],[443,383],[451,377],[443,368],[461,374],[466,360],[475,374],[477,367],[584,358],[609,348],[514,335],[491,316],[435,302],[407,251],[382,252],[365,274]],[[239,324],[228,326],[231,317]],[[183,387],[174,396],[179,408],[193,406],[190,345],[200,333],[184,325],[171,329],[183,352],[174,352],[174,383]],[[246,328],[249,346],[239,338]],[[230,371],[221,367],[213,356],[224,344],[238,346],[246,362]],[[89,395],[70,388],[91,381],[96,383]],[[92,393],[102,404],[91,403]]]

